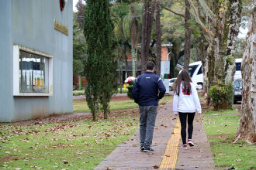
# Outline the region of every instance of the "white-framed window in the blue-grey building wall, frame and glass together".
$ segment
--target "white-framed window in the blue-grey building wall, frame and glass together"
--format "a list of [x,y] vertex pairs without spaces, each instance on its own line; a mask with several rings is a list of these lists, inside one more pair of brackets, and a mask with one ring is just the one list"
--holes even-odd
[[52,56],[15,45],[13,47],[13,62],[14,96],[52,95]]

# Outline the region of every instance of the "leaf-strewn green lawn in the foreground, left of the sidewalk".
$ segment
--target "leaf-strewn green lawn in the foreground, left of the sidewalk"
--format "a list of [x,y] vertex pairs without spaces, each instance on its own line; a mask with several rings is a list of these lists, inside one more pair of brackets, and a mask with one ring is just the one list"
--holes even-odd
[[0,125],[0,168],[92,169],[137,128],[119,120]]

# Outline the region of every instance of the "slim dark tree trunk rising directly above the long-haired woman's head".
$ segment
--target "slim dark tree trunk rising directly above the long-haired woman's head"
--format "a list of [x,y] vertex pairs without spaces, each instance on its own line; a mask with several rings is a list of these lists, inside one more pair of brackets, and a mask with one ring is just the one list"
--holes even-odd
[[185,56],[184,56],[184,70],[189,71],[189,59],[190,59],[190,40],[191,29],[189,26],[190,16],[190,4],[188,0],[185,0]]

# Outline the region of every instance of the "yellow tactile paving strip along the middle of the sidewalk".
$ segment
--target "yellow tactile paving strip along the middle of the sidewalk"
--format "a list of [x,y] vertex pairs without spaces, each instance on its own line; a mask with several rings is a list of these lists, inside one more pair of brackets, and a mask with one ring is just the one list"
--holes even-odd
[[175,124],[175,128],[169,139],[164,157],[160,165],[160,169],[174,169],[177,162],[178,157],[178,143],[181,138],[181,124],[178,120]]

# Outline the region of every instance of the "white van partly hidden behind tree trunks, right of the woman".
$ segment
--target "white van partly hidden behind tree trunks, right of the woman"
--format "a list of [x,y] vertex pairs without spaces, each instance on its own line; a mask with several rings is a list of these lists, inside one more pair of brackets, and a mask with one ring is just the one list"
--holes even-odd
[[[242,59],[235,59],[236,62],[236,73],[234,74],[234,80],[241,79],[241,63]],[[202,73],[202,62],[198,61],[189,64],[189,76],[192,82],[197,85],[197,89],[202,90],[203,88],[203,73]]]

